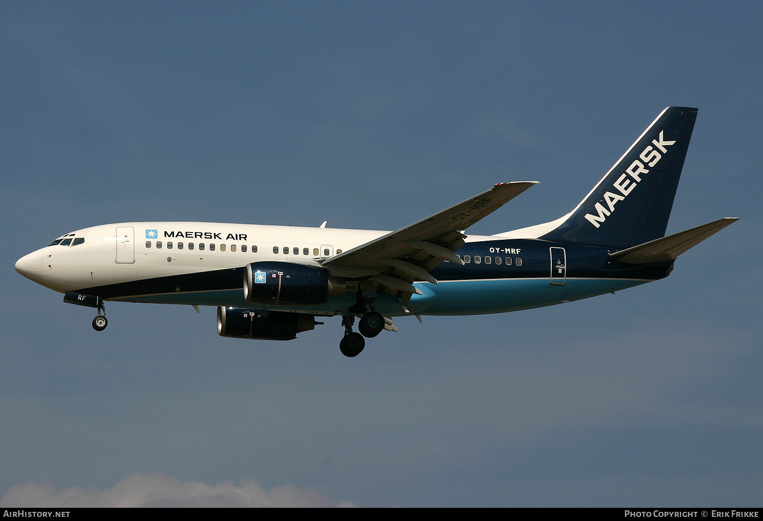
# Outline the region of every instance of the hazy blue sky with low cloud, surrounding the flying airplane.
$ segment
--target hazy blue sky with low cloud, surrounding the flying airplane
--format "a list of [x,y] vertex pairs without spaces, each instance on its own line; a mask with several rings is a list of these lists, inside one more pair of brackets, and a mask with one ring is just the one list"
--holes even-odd
[[[761,18],[3,2],[0,505],[760,506]],[[13,269],[90,225],[398,229],[501,181],[541,184],[472,232],[546,222],[668,105],[700,108],[668,233],[741,220],[615,296],[398,320],[349,360],[336,318],[269,343],[112,303],[99,334]]]

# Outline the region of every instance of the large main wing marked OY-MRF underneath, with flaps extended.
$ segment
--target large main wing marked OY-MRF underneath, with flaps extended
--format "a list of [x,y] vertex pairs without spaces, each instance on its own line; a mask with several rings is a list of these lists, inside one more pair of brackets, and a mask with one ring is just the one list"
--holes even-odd
[[[429,274],[443,261],[463,264],[453,252],[464,245],[462,231],[499,209],[504,203],[538,181],[499,183],[474,197],[469,197],[450,208],[426,219],[414,222],[395,232],[383,235],[364,245],[329,257],[323,265],[334,268],[355,268],[376,272],[373,280],[385,286],[388,293],[416,292],[410,283],[428,280],[436,283]],[[405,299],[407,302],[407,299]]]

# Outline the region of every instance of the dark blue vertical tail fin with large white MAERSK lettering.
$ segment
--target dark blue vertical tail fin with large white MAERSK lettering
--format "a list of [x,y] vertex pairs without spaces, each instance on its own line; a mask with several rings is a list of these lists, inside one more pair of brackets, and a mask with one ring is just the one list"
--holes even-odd
[[665,235],[697,109],[668,107],[549,241],[629,248]]

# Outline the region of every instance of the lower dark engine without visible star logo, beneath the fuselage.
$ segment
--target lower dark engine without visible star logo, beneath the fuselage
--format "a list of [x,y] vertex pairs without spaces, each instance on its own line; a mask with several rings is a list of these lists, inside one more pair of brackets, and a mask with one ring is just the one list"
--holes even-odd
[[217,307],[217,333],[221,337],[254,340],[294,340],[315,327],[315,317],[302,313],[262,312],[259,309]]

